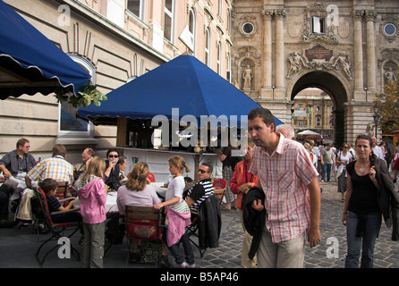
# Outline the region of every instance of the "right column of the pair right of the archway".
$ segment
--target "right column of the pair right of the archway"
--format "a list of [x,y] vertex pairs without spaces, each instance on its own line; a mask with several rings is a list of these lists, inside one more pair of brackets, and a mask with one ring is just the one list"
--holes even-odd
[[[376,39],[374,35],[374,23],[377,21],[377,12],[366,10],[366,29],[367,29],[367,88],[372,97],[377,92],[376,89]],[[369,100],[373,98],[369,98]]]

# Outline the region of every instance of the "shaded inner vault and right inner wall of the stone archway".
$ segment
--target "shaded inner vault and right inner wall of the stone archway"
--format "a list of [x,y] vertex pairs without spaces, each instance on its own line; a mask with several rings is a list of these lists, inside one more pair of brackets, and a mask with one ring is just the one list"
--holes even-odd
[[335,75],[327,71],[310,71],[296,80],[291,91],[291,100],[304,88],[320,88],[333,100],[335,105],[335,139],[337,146],[344,143],[345,120],[344,104],[348,94],[344,84]]

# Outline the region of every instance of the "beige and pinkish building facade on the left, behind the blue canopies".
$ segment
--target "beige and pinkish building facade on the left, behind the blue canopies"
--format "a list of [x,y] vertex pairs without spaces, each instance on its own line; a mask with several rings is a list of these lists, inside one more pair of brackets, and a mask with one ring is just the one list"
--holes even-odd
[[[105,94],[183,53],[231,80],[230,0],[4,2],[89,71]],[[0,101],[0,154],[24,137],[37,159],[51,156],[55,143],[67,147],[71,163],[81,161],[86,147],[104,156],[116,144],[116,127],[93,126],[75,111],[51,95]]]

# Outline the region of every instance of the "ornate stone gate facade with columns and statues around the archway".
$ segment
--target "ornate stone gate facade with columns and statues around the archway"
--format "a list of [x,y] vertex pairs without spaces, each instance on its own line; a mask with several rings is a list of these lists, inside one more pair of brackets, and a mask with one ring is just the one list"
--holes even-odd
[[366,132],[372,100],[398,76],[397,1],[235,0],[233,9],[233,79],[247,95],[289,123],[298,92],[320,88],[335,105],[337,144]]

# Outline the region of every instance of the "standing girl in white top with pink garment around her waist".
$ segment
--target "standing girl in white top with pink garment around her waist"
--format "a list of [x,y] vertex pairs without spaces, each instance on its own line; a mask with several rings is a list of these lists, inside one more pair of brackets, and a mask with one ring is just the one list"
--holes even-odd
[[[183,170],[190,172],[191,169],[186,166],[182,156],[172,156],[168,160],[169,172],[174,179],[169,183],[166,189],[165,202],[154,205],[156,209],[166,206],[166,215],[168,226],[163,240],[174,256],[171,265],[174,268],[194,268],[194,253],[191,248],[191,242],[185,233],[186,226],[191,224],[190,207],[183,200],[183,189],[185,181]],[[180,255],[178,248],[179,241],[182,241],[185,260]]]

